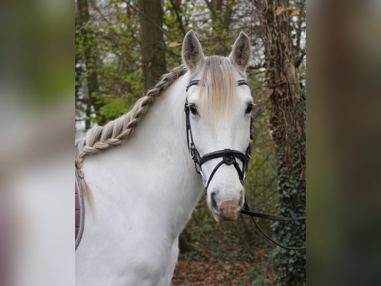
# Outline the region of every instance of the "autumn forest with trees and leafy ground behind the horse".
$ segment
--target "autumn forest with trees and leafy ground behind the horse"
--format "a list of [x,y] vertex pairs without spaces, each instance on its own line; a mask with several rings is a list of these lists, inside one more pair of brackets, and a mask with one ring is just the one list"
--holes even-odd
[[[305,0],[76,0],[76,137],[126,113],[179,66],[190,29],[205,55],[225,56],[244,31],[256,103],[246,197],[252,211],[303,216],[305,28]],[[286,245],[304,245],[304,223],[259,223]],[[244,215],[217,224],[204,197],[180,247],[174,286],[305,285],[305,250],[275,247]]]

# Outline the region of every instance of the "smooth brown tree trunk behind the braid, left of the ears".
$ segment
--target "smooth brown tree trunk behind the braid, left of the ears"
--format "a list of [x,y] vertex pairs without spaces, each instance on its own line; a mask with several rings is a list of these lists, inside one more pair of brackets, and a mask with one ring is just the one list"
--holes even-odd
[[161,0],[139,0],[139,22],[144,89],[150,89],[167,70]]

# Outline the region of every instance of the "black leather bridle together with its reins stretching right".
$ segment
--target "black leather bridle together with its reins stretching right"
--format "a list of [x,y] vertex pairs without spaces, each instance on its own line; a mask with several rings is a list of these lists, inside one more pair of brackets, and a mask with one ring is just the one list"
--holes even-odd
[[[189,83],[189,85],[187,86],[186,91],[188,92],[188,89],[191,86],[198,85],[199,82],[200,82],[199,80],[191,81]],[[240,85],[248,85],[248,84],[245,80],[239,80],[237,82],[237,85],[240,86]],[[187,125],[188,148],[189,148],[189,151],[191,153],[192,160],[194,162],[194,168],[195,168],[196,172],[200,175],[200,177],[202,179],[202,183],[205,186],[205,191],[207,190],[209,183],[210,183],[211,179],[213,178],[213,175],[215,174],[217,169],[222,164],[227,164],[227,165],[233,164],[235,169],[238,172],[239,180],[240,180],[241,184],[243,185],[245,182],[247,166],[248,166],[248,162],[249,162],[250,154],[251,154],[251,143],[249,143],[249,145],[247,146],[245,154],[242,153],[241,151],[237,151],[237,150],[223,149],[223,150],[218,150],[218,151],[207,153],[201,157],[200,153],[198,152],[196,146],[194,145],[194,141],[193,141],[191,121],[190,121],[190,105],[188,103],[188,98],[185,101],[184,110],[185,110],[186,125]],[[250,139],[251,140],[253,140],[252,126],[253,126],[253,117],[251,117],[251,120],[250,120]],[[206,178],[205,178],[204,174],[202,173],[202,168],[201,168],[202,164],[205,163],[206,161],[211,160],[211,159],[220,158],[220,157],[222,157],[222,160],[214,167],[213,171],[210,173],[209,179],[206,181]],[[236,158],[238,158],[242,161],[242,168],[240,168]],[[264,218],[264,219],[270,219],[270,220],[276,220],[276,221],[293,221],[297,226],[300,226],[299,221],[306,220],[305,216],[304,217],[296,217],[292,211],[290,211],[291,217],[281,217],[281,216],[273,216],[273,215],[268,215],[268,214],[251,212],[249,209],[249,205],[247,204],[246,196],[245,196],[244,209],[245,210],[241,210],[240,212],[242,214],[251,216],[251,218],[252,218],[255,226],[258,228],[258,230],[268,240],[270,240],[274,244],[276,244],[280,247],[286,248],[286,249],[290,249],[290,250],[301,250],[301,249],[306,248],[305,246],[303,246],[303,247],[288,247],[288,246],[285,246],[285,245],[282,245],[282,244],[276,242],[275,240],[273,240],[270,236],[268,236],[261,229],[261,227],[258,225],[258,223],[254,219],[254,217],[258,217],[258,218]]]

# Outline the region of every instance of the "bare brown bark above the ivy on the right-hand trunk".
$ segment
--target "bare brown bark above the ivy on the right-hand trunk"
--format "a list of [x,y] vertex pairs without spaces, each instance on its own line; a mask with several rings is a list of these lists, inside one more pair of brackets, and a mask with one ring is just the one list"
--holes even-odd
[[[295,139],[305,142],[305,112],[300,110],[304,103],[292,54],[289,11],[275,13],[277,7],[288,7],[288,0],[259,0],[258,6],[265,46],[266,93],[271,101],[270,128],[277,153],[285,151],[286,173],[291,174],[291,143]],[[305,165],[300,176],[305,178]]]

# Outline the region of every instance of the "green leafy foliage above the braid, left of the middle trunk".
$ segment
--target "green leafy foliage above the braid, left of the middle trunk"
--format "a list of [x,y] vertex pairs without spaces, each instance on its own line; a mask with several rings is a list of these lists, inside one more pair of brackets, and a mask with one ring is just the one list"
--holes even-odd
[[[130,109],[143,95],[142,71],[137,13],[125,7],[123,1],[97,3],[93,6],[92,20],[81,26],[76,24],[76,68],[84,67],[86,33],[92,31],[91,43],[97,52],[95,68],[98,74],[99,92],[95,96],[99,108],[92,111],[92,121],[102,118],[112,120]],[[85,118],[81,110],[89,102],[87,76],[91,70],[85,68],[78,78],[77,120]]]

